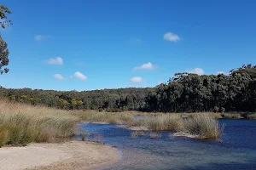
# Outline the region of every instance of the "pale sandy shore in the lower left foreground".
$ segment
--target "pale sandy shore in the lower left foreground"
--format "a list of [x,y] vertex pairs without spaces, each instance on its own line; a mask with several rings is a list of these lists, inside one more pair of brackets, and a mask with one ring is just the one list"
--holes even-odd
[[0,170],[82,170],[118,160],[118,153],[113,147],[94,142],[71,141],[0,148]]

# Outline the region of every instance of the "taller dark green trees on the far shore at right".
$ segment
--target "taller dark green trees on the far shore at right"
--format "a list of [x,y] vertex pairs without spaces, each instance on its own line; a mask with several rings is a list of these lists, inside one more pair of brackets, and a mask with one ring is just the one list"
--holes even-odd
[[256,66],[224,74],[177,73],[149,94],[147,111],[256,111]]

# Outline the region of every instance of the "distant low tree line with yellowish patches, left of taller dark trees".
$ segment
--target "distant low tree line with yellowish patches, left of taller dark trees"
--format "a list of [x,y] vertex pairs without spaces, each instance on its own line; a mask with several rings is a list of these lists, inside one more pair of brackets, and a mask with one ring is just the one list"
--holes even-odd
[[47,105],[60,109],[85,109],[106,111],[142,111],[145,97],[154,88],[119,88],[94,91],[32,90],[31,88],[0,88],[0,96],[12,101]]

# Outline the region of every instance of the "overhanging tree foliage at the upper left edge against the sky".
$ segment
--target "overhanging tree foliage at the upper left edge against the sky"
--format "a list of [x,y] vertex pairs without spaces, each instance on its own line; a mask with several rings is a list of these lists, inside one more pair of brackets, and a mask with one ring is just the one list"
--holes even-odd
[[[12,25],[11,20],[7,20],[7,14],[11,14],[9,8],[1,5],[0,6],[0,25],[4,29],[6,26]],[[2,69],[3,66],[9,65],[9,49],[7,48],[7,42],[4,42],[0,35],[0,74],[7,73],[8,68]]]

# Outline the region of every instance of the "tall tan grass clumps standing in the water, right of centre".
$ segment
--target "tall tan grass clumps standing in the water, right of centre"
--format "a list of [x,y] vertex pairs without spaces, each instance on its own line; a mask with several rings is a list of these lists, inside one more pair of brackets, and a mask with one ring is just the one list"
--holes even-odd
[[145,126],[152,131],[174,131],[187,133],[200,139],[220,139],[223,126],[219,126],[214,116],[207,113],[190,114],[162,114],[144,117],[133,122],[132,126]]

